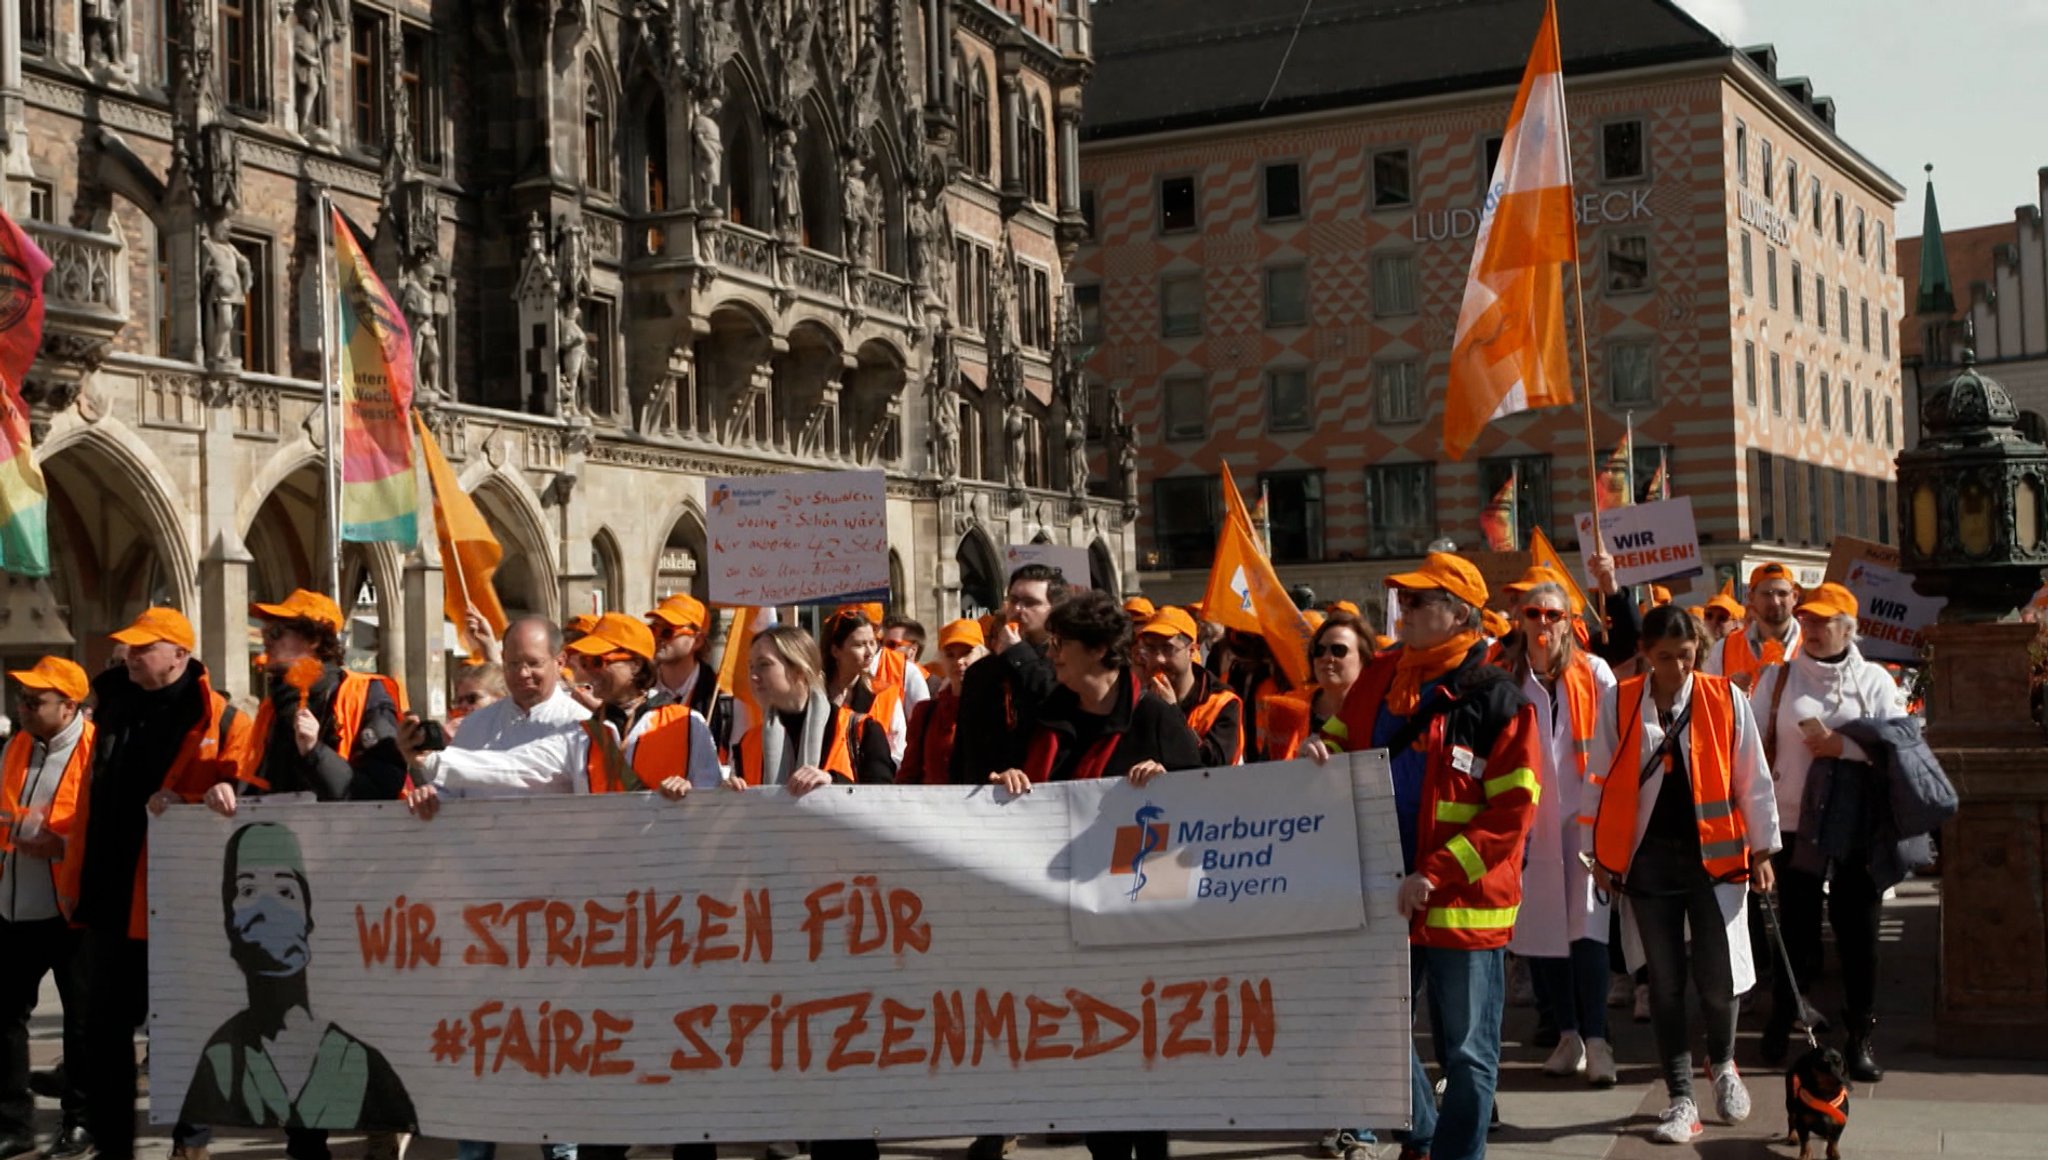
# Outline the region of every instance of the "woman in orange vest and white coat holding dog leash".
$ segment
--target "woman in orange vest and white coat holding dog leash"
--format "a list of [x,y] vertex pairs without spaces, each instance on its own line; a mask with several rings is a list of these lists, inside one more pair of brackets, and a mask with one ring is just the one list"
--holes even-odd
[[[1602,705],[1579,822],[1593,881],[1624,900],[1630,965],[1649,967],[1651,1029],[1671,1105],[1651,1140],[1692,1144],[1686,976],[1700,994],[1714,1105],[1749,1119],[1735,1072],[1735,996],[1755,986],[1745,898],[1772,889],[1778,801],[1749,699],[1698,672],[1706,625],[1677,605],[1642,617],[1647,676]],[[1747,883],[1747,889],[1745,889]]]

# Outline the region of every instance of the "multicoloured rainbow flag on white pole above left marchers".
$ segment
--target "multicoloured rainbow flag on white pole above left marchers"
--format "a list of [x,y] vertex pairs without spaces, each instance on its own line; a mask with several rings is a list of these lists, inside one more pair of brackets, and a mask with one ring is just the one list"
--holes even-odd
[[420,541],[412,441],[412,328],[340,209],[334,217],[342,375],[342,539]]

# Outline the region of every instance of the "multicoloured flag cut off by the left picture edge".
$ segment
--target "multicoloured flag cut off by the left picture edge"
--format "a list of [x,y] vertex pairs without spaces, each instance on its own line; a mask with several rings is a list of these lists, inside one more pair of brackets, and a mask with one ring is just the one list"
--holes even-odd
[[0,572],[49,576],[49,488],[20,383],[43,344],[49,256],[0,211]]

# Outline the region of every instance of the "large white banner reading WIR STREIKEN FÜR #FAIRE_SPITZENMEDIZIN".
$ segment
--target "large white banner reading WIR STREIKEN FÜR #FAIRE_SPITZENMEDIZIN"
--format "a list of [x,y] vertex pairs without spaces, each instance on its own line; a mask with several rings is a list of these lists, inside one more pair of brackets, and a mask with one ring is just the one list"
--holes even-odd
[[[1386,754],[1145,787],[1167,818],[1350,810],[1352,848],[1307,838],[1362,920],[1321,933],[1257,933],[1329,906],[1305,879],[1210,889],[1169,953],[1077,945],[1073,883],[1118,871],[1071,797],[1108,812],[1094,830],[1130,820],[1118,793],[172,807],[150,830],[152,1119],[606,1144],[1405,1125]],[[1247,875],[1276,877],[1200,881]],[[264,1082],[293,1060],[305,1082]]]

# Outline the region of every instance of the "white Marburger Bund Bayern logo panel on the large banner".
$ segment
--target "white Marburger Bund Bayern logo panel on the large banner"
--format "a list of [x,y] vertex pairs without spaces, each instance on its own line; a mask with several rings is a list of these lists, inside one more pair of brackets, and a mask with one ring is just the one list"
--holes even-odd
[[1239,773],[1145,789],[1087,781],[1067,791],[1075,943],[1200,943],[1364,926],[1364,892],[1352,867],[1352,771],[1290,760]]

